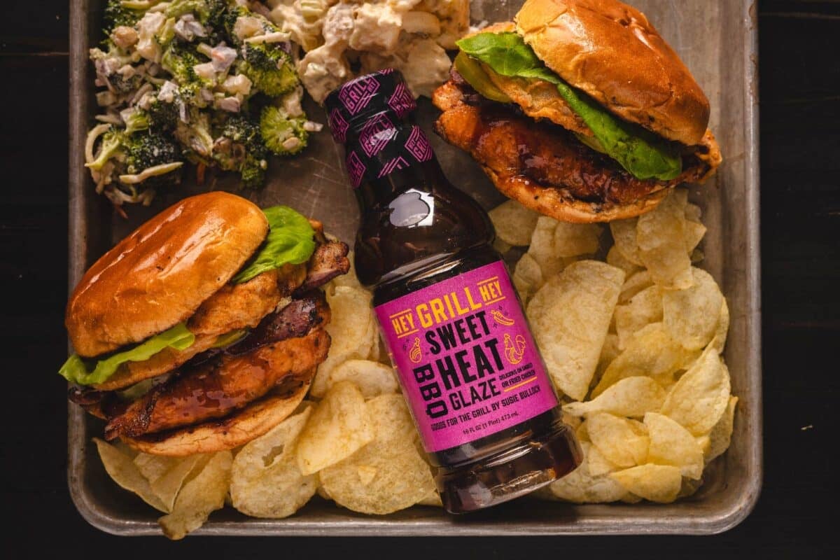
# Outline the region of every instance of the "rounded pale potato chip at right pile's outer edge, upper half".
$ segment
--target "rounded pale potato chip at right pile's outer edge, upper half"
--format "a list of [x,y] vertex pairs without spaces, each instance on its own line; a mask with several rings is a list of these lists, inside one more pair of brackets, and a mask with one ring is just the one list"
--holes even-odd
[[677,342],[689,350],[700,350],[715,336],[723,294],[706,270],[692,268],[691,276],[693,284],[685,290],[664,292],[663,322]]

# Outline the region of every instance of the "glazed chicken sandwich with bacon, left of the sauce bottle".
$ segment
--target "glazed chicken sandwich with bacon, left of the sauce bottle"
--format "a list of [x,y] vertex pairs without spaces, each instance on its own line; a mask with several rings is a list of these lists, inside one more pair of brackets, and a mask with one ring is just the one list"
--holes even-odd
[[187,198],[97,260],[67,304],[70,399],[105,437],[160,455],[208,453],[268,432],[327,357],[318,286],[348,247],[289,207],[224,192]]

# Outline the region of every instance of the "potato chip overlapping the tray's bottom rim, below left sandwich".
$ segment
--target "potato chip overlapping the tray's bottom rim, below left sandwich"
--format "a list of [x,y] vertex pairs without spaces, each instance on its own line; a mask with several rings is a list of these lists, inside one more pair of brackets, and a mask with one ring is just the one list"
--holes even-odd
[[171,513],[158,520],[165,536],[172,540],[181,539],[186,533],[204,525],[213,511],[224,507],[233,462],[229,451],[213,453],[201,472],[184,484]]

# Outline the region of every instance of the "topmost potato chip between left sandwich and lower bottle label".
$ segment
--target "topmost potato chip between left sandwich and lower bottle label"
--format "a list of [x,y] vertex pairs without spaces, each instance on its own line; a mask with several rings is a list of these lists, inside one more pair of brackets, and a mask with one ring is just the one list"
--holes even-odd
[[348,458],[374,438],[365,395],[350,381],[339,381],[315,406],[297,439],[297,467],[304,475]]

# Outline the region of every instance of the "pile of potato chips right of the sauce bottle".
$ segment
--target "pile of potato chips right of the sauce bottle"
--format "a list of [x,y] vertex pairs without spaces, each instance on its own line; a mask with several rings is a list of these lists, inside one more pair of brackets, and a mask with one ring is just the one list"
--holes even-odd
[[700,208],[677,189],[640,217],[557,222],[507,201],[491,211],[503,252],[528,244],[513,281],[563,395],[584,462],[538,493],[575,503],[668,503],[726,451],[738,398],[721,353],[726,299],[697,245]]

